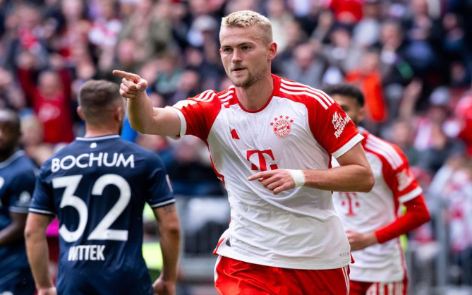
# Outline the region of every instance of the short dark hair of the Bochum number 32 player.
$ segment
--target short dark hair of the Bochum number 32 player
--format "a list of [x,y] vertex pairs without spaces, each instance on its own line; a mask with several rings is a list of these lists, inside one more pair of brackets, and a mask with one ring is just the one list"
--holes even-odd
[[107,80],[88,80],[79,90],[78,102],[85,121],[98,123],[104,112],[114,111],[117,102],[123,101],[120,88]]

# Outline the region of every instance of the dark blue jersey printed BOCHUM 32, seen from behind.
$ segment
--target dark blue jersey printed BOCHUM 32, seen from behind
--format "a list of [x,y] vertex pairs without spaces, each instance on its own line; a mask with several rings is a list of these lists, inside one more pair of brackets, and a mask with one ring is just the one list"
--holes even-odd
[[119,136],[77,138],[44,162],[30,212],[59,217],[59,294],[152,294],[145,203],[174,203],[164,164]]

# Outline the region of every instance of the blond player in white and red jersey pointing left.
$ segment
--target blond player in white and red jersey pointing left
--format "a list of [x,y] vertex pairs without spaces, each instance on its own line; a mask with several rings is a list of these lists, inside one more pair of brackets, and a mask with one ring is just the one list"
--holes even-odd
[[[253,11],[222,19],[220,55],[234,86],[153,108],[147,81],[123,78],[131,126],[197,136],[224,183],[231,222],[215,253],[220,294],[346,294],[349,242],[331,191],[370,191],[362,136],[328,95],[272,75],[270,21]],[[341,167],[329,169],[331,155]]]

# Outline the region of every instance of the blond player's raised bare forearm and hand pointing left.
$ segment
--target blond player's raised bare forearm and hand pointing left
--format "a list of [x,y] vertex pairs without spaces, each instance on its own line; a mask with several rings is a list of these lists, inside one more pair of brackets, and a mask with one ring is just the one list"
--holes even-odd
[[118,70],[113,74],[122,78],[120,94],[128,99],[128,117],[133,129],[140,133],[178,136],[181,128],[178,115],[170,109],[152,107],[146,94],[147,80]]

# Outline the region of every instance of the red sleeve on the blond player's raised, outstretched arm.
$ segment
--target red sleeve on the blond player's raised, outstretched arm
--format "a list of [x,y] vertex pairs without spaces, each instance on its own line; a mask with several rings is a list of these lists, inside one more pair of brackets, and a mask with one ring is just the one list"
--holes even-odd
[[214,120],[222,108],[222,102],[213,90],[207,90],[200,95],[181,100],[172,107],[181,119],[181,132],[207,140]]

